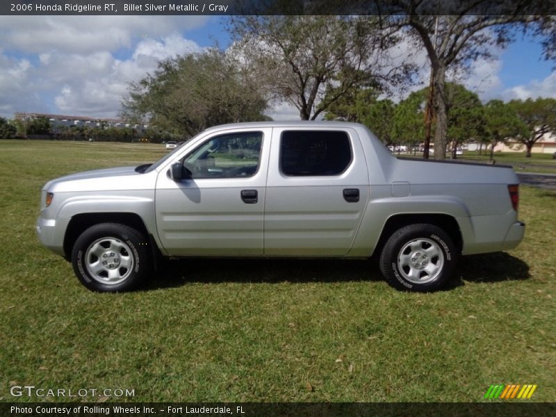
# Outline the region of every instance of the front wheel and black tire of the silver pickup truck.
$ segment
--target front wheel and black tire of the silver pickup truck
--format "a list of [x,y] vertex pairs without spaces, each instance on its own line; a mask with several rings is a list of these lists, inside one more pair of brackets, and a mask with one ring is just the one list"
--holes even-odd
[[92,291],[129,291],[149,272],[147,239],[124,224],[100,223],[77,238],[72,250],[75,275]]

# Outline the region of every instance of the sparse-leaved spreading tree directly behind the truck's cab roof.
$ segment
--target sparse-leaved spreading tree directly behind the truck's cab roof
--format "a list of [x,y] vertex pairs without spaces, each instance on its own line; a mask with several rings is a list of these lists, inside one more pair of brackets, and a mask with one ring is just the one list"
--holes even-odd
[[261,13],[233,17],[229,31],[268,97],[295,106],[302,120],[357,88],[386,90],[411,69],[391,66],[385,52],[398,38],[381,31],[377,18]]

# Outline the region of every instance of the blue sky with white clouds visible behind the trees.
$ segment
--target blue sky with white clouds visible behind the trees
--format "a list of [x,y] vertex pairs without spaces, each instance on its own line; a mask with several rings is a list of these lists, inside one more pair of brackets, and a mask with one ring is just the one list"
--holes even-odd
[[[207,16],[0,16],[0,116],[19,112],[117,117],[130,82],[156,69],[158,60],[231,42],[224,17]],[[409,50],[409,46],[406,46]],[[462,82],[483,101],[556,97],[553,63],[541,45],[522,37],[477,61]],[[427,81],[425,54],[420,85]],[[410,90],[398,92],[395,100]],[[268,111],[296,119],[286,104]]]

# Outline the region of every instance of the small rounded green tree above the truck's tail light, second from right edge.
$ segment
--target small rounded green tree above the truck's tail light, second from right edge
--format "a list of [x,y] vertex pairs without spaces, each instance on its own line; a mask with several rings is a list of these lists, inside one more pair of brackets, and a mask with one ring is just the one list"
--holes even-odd
[[509,138],[518,138],[527,134],[527,126],[523,123],[512,106],[501,100],[489,101],[483,109],[483,132],[490,142],[493,160],[494,147],[498,142],[506,142]]

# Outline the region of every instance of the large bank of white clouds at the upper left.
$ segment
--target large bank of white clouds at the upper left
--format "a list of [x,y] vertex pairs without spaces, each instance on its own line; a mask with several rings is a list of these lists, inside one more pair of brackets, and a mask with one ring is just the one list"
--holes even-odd
[[178,30],[205,17],[0,17],[0,115],[115,117],[131,81],[201,51]]

